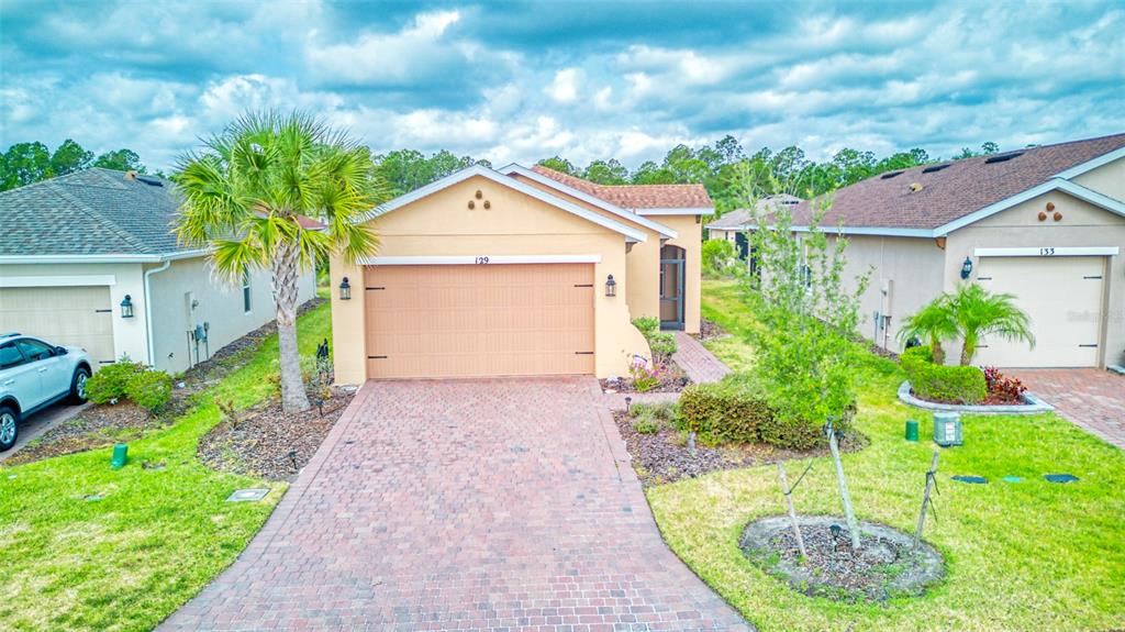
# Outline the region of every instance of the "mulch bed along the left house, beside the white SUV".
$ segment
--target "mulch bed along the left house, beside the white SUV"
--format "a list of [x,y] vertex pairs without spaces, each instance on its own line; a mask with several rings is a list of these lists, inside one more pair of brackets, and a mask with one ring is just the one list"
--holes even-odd
[[[305,303],[297,308],[298,316],[322,303],[324,303],[322,298]],[[37,436],[7,458],[3,466],[30,463],[106,448],[118,442],[135,441],[154,430],[165,427],[191,408],[192,396],[244,367],[253,358],[261,342],[276,332],[277,323],[271,320],[184,371],[183,376],[172,383],[171,400],[158,414],[150,414],[128,401],[90,406],[74,418]]]

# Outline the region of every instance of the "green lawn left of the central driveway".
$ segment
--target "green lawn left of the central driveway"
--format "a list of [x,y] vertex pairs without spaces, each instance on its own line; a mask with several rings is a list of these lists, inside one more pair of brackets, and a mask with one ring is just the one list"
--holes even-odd
[[[330,336],[328,305],[298,327],[314,353]],[[286,486],[213,471],[196,444],[219,421],[213,397],[244,408],[271,395],[277,353],[273,336],[176,424],[132,443],[122,470],[108,449],[0,468],[0,629],[151,630],[234,561]],[[244,487],[272,490],[224,503]],[[83,499],[92,494],[105,498]]]

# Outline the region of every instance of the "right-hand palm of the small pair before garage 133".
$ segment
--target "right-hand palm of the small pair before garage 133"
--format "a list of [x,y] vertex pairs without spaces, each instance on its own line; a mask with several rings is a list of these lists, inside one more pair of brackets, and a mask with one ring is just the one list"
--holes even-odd
[[972,362],[981,336],[1024,341],[1032,347],[1035,346],[1032,319],[1016,306],[1015,296],[992,294],[975,283],[969,283],[957,288],[950,301],[957,319],[958,333],[964,341],[961,347],[962,365]]

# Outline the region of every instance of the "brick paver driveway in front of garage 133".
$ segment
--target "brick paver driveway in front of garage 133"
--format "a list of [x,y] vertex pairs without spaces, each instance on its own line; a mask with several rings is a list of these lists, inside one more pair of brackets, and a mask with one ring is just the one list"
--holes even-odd
[[1005,369],[1090,434],[1125,450],[1125,377],[1101,369]]

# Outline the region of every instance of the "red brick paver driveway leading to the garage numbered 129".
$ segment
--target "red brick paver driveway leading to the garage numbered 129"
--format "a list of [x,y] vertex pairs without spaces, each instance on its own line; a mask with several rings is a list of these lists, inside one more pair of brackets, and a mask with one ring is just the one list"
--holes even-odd
[[368,382],[161,630],[747,630],[667,549],[593,378]]

